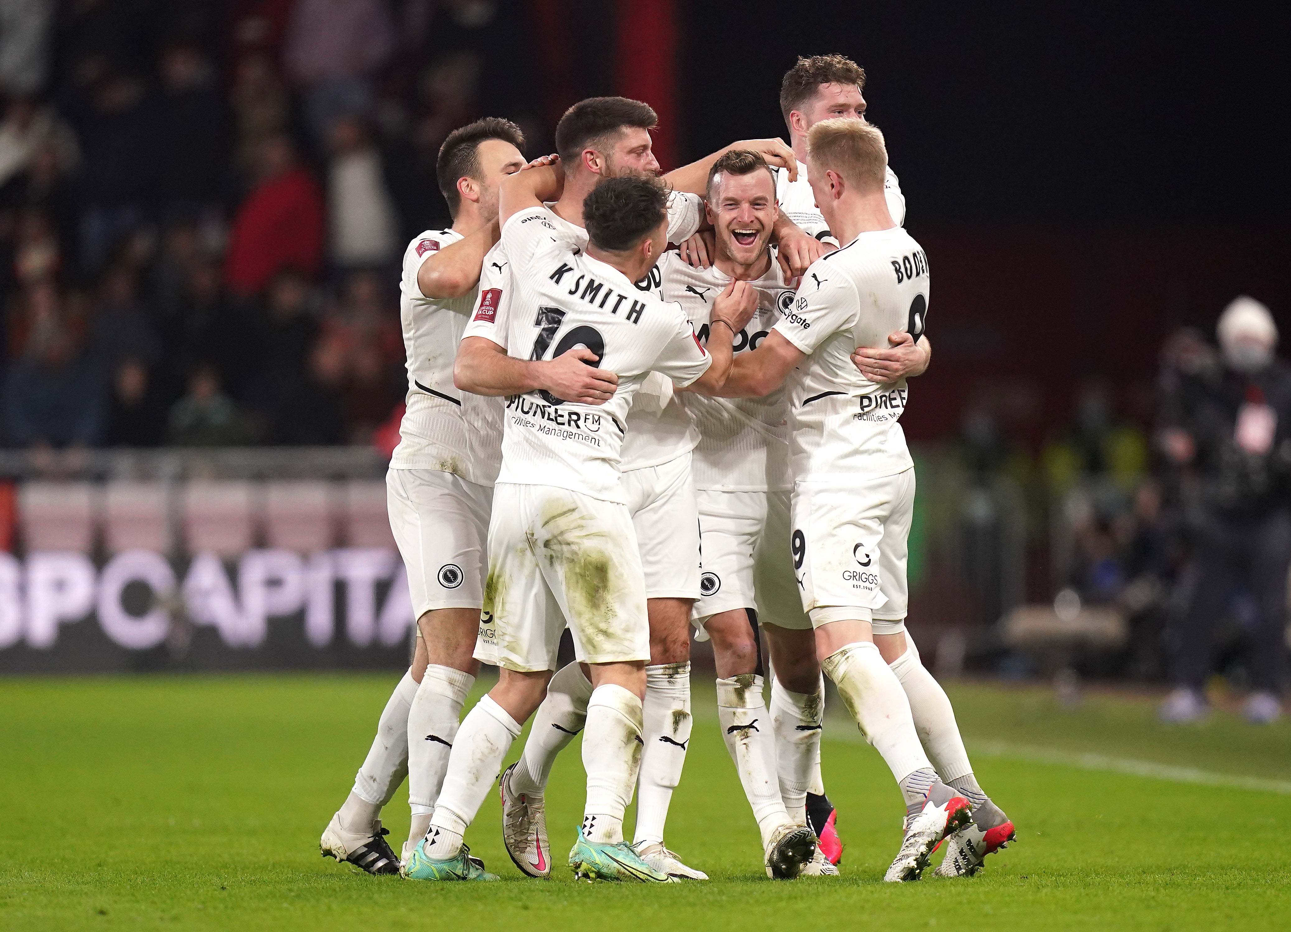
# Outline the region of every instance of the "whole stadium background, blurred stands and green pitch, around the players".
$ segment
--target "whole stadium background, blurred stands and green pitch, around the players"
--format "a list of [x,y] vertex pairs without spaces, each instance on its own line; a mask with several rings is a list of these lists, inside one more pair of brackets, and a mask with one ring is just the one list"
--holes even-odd
[[[1288,16],[0,0],[0,927],[1283,928],[1291,725],[1238,715],[1241,617],[1217,712],[1157,720],[1179,567],[1135,555],[1166,530],[1167,337],[1238,293],[1291,324]],[[320,861],[407,657],[381,480],[440,140],[498,114],[550,151],[565,106],[622,93],[671,168],[782,136],[780,76],[822,52],[869,70],[936,273],[911,630],[1019,844],[967,885],[878,883],[899,798],[831,699],[843,876],[768,883],[696,645],[669,843],[711,883],[520,882],[496,799],[487,897]],[[572,747],[554,843],[581,779]]]

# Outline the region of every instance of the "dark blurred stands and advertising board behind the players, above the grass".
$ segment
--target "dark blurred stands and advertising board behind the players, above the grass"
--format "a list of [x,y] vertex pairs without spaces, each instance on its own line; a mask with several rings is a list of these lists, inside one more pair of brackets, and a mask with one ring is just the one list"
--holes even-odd
[[[448,222],[443,136],[502,114],[544,153],[565,106],[622,93],[673,167],[782,134],[780,74],[838,47],[937,270],[902,421],[927,653],[1161,679],[1168,600],[1126,608],[1177,569],[1128,552],[1161,530],[1140,495],[1158,357],[1238,293],[1283,314],[1285,9],[5,8],[0,670],[399,666],[396,264]],[[159,558],[108,571],[141,548]],[[222,566],[194,577],[201,553]],[[187,595],[154,605],[132,574]],[[1064,588],[1115,631],[1019,649],[1001,619]]]

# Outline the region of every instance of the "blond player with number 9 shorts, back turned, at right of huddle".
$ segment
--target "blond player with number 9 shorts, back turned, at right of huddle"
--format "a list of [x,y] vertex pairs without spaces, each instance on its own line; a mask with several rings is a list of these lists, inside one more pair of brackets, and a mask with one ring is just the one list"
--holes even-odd
[[1013,838],[981,791],[945,692],[905,628],[914,467],[899,419],[904,380],[857,374],[857,346],[895,330],[917,341],[930,274],[891,216],[887,150],[874,127],[824,120],[808,133],[812,189],[846,246],[815,262],[793,308],[732,367],[723,394],[763,397],[789,384],[794,492],[790,547],[817,654],[906,803],[905,835],[884,880],[917,880],[942,839],[941,875],[959,876]]

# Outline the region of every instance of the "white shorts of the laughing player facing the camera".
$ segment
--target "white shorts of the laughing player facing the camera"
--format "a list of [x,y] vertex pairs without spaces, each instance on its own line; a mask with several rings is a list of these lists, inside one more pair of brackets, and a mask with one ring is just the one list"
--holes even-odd
[[711,615],[755,609],[758,620],[809,628],[789,551],[788,491],[700,490],[700,601],[696,627]]

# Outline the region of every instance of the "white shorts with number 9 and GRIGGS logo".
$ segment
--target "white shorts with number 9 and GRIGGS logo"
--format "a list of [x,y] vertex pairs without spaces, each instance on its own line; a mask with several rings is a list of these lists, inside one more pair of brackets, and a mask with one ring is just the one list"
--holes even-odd
[[855,619],[877,635],[905,630],[913,516],[914,469],[794,485],[790,548],[813,627]]

